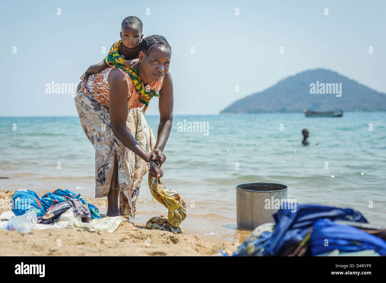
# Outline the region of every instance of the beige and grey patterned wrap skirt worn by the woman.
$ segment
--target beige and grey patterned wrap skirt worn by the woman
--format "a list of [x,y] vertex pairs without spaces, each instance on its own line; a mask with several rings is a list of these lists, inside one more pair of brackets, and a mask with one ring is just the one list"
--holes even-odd
[[[115,137],[108,107],[81,89],[75,95],[75,105],[83,131],[95,148],[95,197],[102,198],[110,191],[116,153],[120,213],[134,218],[139,188],[144,175],[149,171],[147,163]],[[154,149],[156,139],[141,108],[129,109],[126,127],[147,153]]]

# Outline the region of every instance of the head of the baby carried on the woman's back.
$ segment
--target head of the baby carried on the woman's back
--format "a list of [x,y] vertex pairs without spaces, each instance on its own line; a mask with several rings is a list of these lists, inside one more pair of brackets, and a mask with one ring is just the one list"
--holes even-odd
[[122,31],[120,37],[123,45],[129,49],[133,49],[139,45],[142,40],[142,22],[139,18],[130,16],[122,21]]

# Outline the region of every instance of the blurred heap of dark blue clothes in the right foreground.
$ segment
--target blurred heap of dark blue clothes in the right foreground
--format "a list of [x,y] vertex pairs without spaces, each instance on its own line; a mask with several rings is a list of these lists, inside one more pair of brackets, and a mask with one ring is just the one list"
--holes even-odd
[[298,204],[296,212],[279,209],[273,218],[275,223],[256,227],[237,251],[215,256],[386,256],[386,229],[353,209]]

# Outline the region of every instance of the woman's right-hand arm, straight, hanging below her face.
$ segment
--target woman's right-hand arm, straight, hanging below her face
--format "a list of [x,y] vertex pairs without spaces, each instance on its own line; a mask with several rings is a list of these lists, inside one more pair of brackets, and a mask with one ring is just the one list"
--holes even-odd
[[[168,141],[173,123],[173,80],[171,79],[170,72],[166,73],[164,77],[162,88],[159,90],[159,95],[159,125],[157,142],[154,146],[154,151],[151,152],[150,156],[153,160],[157,160],[162,164],[166,159],[162,152],[166,146],[166,142]],[[157,154],[155,159],[153,158],[153,152]]]

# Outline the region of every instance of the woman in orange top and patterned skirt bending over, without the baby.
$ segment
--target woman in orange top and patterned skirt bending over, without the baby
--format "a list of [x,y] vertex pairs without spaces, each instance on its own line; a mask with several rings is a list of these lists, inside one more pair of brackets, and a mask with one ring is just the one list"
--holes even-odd
[[162,164],[166,160],[163,150],[173,121],[170,57],[168,41],[151,35],[142,40],[139,62],[133,65],[146,91],[160,95],[157,142],[141,111],[141,94],[127,72],[108,67],[78,85],[76,109],[95,148],[95,197],[107,196],[107,216],[135,217],[144,174],[163,176],[155,161]]

